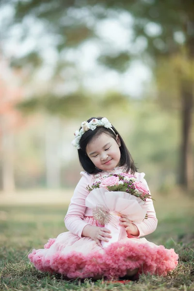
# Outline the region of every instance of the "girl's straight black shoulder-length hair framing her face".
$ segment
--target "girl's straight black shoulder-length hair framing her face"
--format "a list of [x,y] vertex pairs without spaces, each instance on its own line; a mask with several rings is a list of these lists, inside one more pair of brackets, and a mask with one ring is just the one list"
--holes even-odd
[[[103,117],[91,117],[90,119],[87,120],[89,123],[92,119],[102,119]],[[80,128],[81,129],[81,128]],[[134,174],[137,172],[137,168],[134,164],[133,158],[131,157],[129,150],[127,146],[124,143],[124,140],[122,139],[121,135],[118,133],[118,131],[113,127],[112,129],[114,130],[115,134],[118,134],[118,137],[121,141],[121,146],[119,146],[120,153],[121,153],[121,158],[120,158],[120,166],[124,166],[124,172],[128,173],[130,171],[131,174]],[[80,139],[80,149],[78,149],[78,155],[79,155],[79,160],[82,168],[89,174],[97,174],[101,172],[102,170],[98,169],[94,163],[90,160],[86,153],[86,146],[93,138],[97,138],[101,133],[106,133],[110,135],[115,141],[116,141],[116,135],[111,129],[107,129],[103,126],[97,127],[95,130],[87,130],[84,132],[84,134],[81,136]]]

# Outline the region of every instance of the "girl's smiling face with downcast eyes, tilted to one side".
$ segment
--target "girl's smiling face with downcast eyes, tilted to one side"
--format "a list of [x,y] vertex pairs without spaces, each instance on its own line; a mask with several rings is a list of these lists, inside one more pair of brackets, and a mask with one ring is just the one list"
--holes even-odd
[[103,132],[87,144],[86,153],[98,169],[112,170],[120,162],[119,146],[121,146],[121,142],[118,135],[116,135],[115,141],[113,137]]

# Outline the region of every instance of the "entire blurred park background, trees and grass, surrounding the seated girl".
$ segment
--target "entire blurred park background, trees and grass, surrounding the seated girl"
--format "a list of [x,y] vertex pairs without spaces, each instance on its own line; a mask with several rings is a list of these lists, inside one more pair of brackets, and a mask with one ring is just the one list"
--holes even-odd
[[67,231],[73,133],[97,116],[146,174],[158,218],[146,239],[179,255],[131,290],[193,290],[194,1],[0,0],[1,290],[78,290],[28,254]]

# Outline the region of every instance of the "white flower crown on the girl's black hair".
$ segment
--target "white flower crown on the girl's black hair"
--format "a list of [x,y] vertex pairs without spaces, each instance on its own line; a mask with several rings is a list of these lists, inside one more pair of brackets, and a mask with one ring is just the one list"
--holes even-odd
[[[103,126],[107,129],[111,129],[114,132],[114,130],[112,129],[112,124],[108,121],[106,117],[103,117],[102,119],[93,118],[90,122],[83,121],[81,123],[81,129],[74,132],[75,138],[71,142],[71,144],[77,149],[80,149],[80,140],[84,132],[88,131],[89,129],[95,130],[98,126]],[[115,132],[114,134],[116,135]]]

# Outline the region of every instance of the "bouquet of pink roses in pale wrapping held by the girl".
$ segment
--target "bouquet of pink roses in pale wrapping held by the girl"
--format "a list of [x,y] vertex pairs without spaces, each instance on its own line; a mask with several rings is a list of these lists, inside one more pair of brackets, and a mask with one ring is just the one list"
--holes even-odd
[[141,222],[146,219],[146,199],[151,198],[146,182],[133,175],[120,173],[97,178],[87,188],[89,194],[85,200],[86,207],[93,209],[94,219],[112,232],[108,245],[127,237],[124,226],[120,226],[120,216],[127,215],[130,221]]

